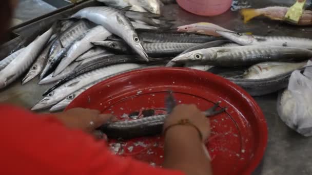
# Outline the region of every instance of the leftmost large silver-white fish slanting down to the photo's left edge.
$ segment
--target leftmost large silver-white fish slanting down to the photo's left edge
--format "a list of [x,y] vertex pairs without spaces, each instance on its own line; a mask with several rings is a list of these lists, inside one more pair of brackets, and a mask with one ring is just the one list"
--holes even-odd
[[59,29],[58,25],[55,23],[48,31],[38,36],[0,72],[0,89],[16,80],[30,67],[55,30]]

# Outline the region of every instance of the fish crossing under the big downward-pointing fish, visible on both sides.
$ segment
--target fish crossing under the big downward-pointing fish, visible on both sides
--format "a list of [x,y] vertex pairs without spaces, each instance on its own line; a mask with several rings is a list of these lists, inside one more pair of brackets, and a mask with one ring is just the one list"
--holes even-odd
[[[132,54],[131,48],[123,41],[100,41],[92,42],[95,46],[104,47],[107,50]],[[159,43],[143,43],[143,47],[149,57],[166,57],[177,56],[185,49],[198,46],[199,43],[181,43],[181,42],[159,42]]]

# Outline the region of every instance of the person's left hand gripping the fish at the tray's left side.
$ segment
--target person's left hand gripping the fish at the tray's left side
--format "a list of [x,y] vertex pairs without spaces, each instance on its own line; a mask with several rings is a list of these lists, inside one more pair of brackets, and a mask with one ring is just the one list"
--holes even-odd
[[[86,133],[93,134],[96,138],[101,138],[99,131],[95,129],[108,121],[116,121],[111,114],[100,114],[100,111],[84,108],[73,108],[71,110],[56,113],[54,116],[65,126],[74,129],[81,129]],[[105,137],[102,135],[102,137]]]

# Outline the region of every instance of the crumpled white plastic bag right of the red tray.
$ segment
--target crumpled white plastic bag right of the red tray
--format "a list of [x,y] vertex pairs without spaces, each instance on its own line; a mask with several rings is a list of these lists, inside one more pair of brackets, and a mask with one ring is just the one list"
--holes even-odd
[[[311,65],[309,61],[307,65]],[[278,113],[290,128],[312,136],[312,68],[291,74],[288,89],[278,99]]]

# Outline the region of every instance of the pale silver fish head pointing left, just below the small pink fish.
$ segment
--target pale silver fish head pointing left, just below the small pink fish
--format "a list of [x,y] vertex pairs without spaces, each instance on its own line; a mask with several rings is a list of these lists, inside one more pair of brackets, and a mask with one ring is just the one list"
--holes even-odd
[[249,33],[228,32],[228,31],[216,31],[221,36],[239,43],[240,45],[251,45],[255,41],[255,37]]

